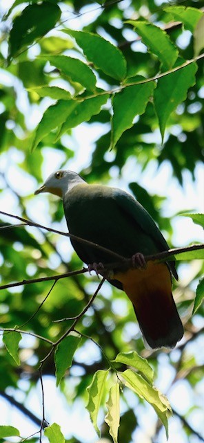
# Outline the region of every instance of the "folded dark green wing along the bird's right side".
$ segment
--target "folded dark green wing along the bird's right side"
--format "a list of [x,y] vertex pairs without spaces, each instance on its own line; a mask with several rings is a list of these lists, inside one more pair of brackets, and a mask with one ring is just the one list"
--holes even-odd
[[[130,194],[124,192],[122,190],[118,190],[115,188],[114,190],[114,199],[116,203],[120,206],[120,208],[129,216],[134,219],[137,225],[143,230],[146,235],[149,235],[151,239],[154,241],[158,251],[167,251],[169,246],[165,241],[161,231],[156,226],[154,220],[151,215],[147,213],[145,208],[141,206],[141,204],[134,199]],[[178,275],[176,273],[176,269],[174,266],[174,261],[168,262],[168,266],[170,267],[172,274],[178,280]]]

